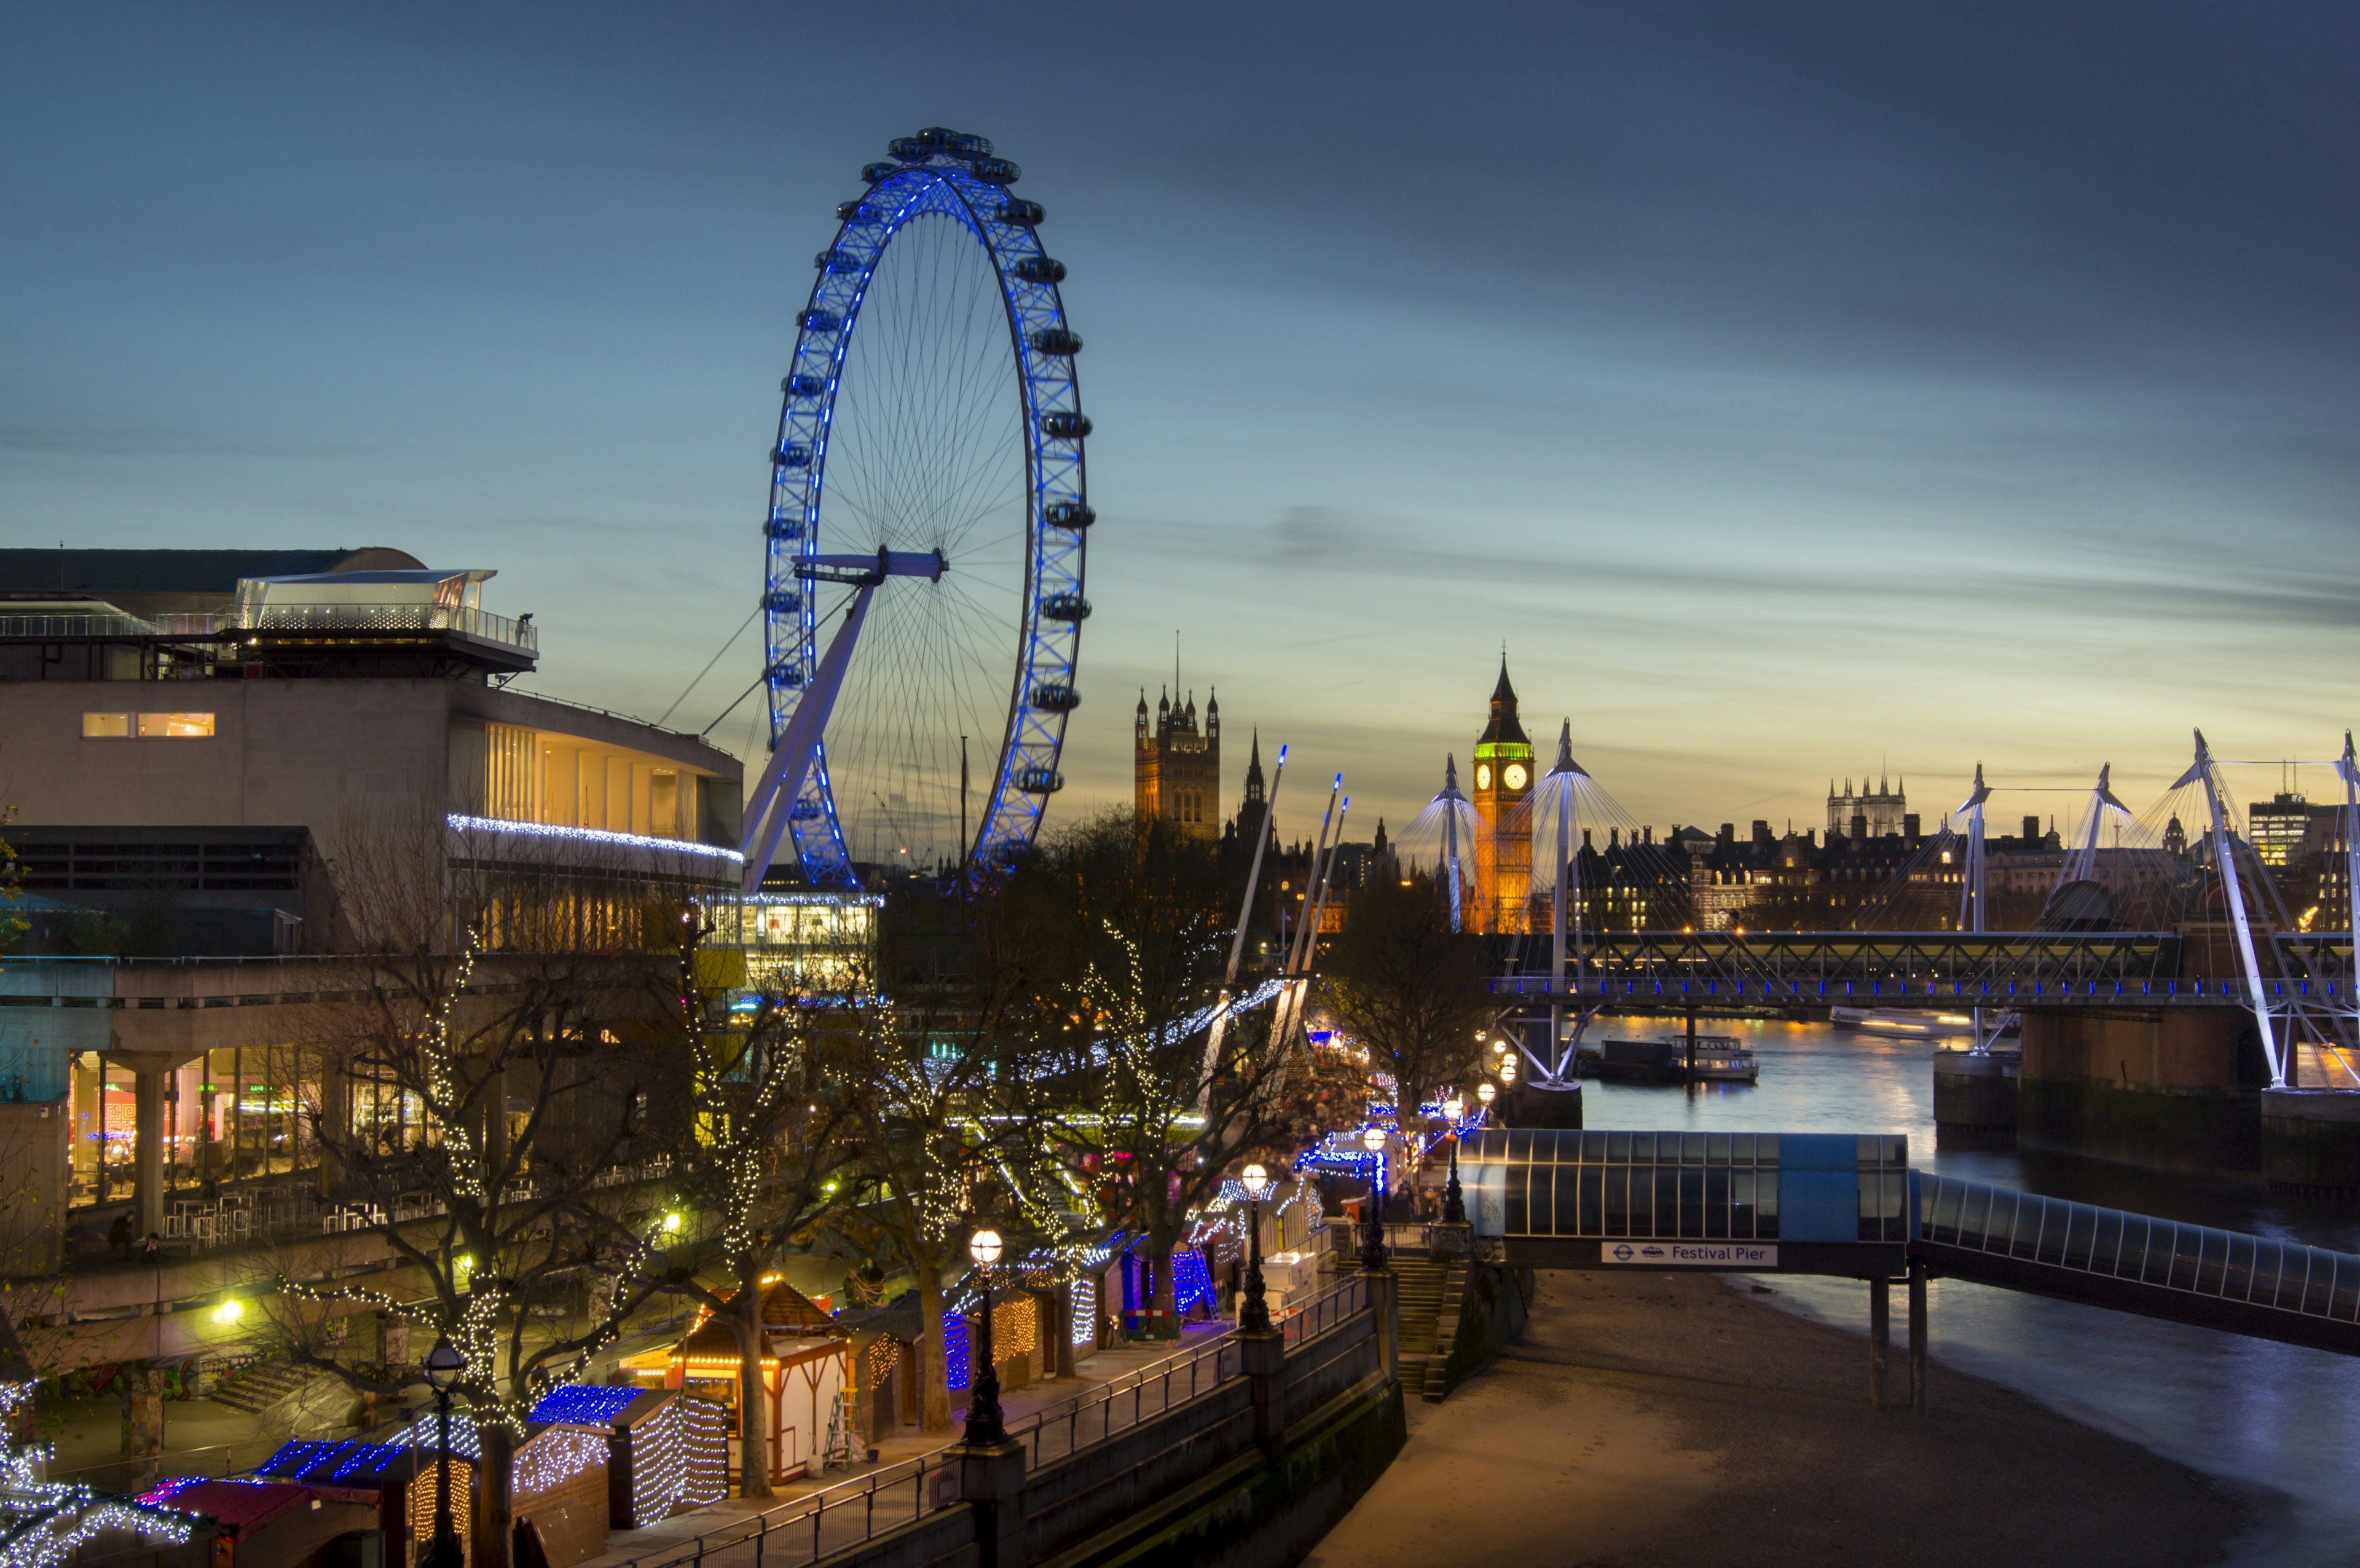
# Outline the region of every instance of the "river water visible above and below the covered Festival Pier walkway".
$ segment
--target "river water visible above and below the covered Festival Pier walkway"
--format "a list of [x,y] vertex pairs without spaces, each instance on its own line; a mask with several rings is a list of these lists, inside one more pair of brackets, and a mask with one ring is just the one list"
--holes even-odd
[[[2259,1181],[2200,1181],[2070,1155],[1942,1152],[1933,1138],[1933,1046],[1812,1023],[1725,1023],[1761,1058],[1758,1084],[1588,1084],[1595,1129],[1907,1133],[1912,1164],[1945,1176],[2112,1209],[2360,1252],[2360,1211]],[[1598,1020],[1591,1037],[1652,1039],[1661,1018]],[[1794,1278],[1782,1301],[1867,1329],[1867,1287]],[[1895,1313],[1900,1318],[1900,1313]],[[1895,1325],[1900,1337],[1900,1325]],[[2249,1563],[2360,1563],[2360,1363],[2327,1351],[2155,1322],[2070,1301],[1938,1280],[1938,1360],[2020,1389],[2183,1464],[2289,1492],[2294,1537],[2256,1540]],[[1867,1372],[1862,1370],[1862,1379]],[[1940,1396],[1940,1389],[1935,1389]]]

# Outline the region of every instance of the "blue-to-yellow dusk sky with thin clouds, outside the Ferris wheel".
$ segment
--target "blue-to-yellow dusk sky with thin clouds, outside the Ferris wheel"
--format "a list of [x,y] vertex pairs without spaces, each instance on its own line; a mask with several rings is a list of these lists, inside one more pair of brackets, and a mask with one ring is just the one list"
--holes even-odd
[[2360,720],[2355,61],[2348,5],[19,5],[0,538],[496,567],[533,690],[656,718],[762,588],[833,205],[953,125],[1088,340],[1057,815],[1175,631],[1225,810],[1260,725],[1397,827],[1503,642],[1659,829],[1881,760],[2138,810],[2190,725]]

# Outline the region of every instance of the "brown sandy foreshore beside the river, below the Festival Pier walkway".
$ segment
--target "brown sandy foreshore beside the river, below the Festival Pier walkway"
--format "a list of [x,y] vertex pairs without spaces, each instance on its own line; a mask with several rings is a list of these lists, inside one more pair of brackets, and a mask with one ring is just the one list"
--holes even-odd
[[1940,1360],[1928,1389],[1928,1417],[1869,1410],[1862,1334],[1713,1278],[1541,1275],[1525,1339],[1411,1403],[1310,1563],[2174,1568],[2270,1509]]

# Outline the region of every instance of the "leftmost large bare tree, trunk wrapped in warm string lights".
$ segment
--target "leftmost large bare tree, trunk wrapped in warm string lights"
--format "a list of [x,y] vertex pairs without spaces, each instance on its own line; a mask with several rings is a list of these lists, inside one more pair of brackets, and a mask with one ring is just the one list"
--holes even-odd
[[[654,1289],[661,1230],[628,1167],[651,1148],[647,997],[663,963],[637,923],[677,916],[628,867],[505,864],[439,822],[349,834],[337,869],[361,954],[345,999],[323,1008],[309,1119],[335,1195],[425,1294],[281,1287],[290,1301],[394,1313],[460,1351],[455,1396],[484,1455],[474,1561],[505,1568],[526,1412]],[[404,1112],[392,1126],[354,1117],[354,1086]],[[559,1315],[559,1301],[583,1306]],[[406,1367],[347,1365],[309,1332],[293,1346],[359,1389],[415,1381]]]

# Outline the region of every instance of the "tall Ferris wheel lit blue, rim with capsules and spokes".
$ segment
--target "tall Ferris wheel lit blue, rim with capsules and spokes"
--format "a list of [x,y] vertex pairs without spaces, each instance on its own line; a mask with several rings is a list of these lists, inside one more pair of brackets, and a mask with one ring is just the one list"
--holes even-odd
[[[809,581],[817,555],[942,550],[939,581],[876,588],[788,817],[817,886],[854,862],[932,871],[965,843],[998,864],[1031,843],[1076,704],[1081,652],[1081,387],[1015,165],[951,132],[894,142],[838,208],[781,383],[765,576],[772,744],[812,685],[850,588]],[[1012,675],[1010,675],[1012,671]]]

